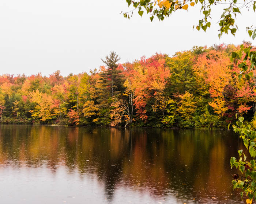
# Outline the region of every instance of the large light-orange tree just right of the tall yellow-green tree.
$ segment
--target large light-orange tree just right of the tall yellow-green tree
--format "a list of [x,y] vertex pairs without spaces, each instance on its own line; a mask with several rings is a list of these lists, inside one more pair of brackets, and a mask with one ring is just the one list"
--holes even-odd
[[210,50],[197,58],[193,66],[200,87],[208,86],[211,101],[208,104],[222,117],[228,111],[223,91],[232,86],[233,70],[229,57],[220,51]]

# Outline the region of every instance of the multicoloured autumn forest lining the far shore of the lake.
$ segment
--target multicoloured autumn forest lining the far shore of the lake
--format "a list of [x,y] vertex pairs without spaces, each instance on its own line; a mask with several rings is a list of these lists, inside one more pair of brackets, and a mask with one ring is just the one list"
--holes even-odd
[[123,64],[111,52],[89,73],[4,74],[1,123],[226,128],[242,116],[255,128],[256,79],[237,77],[231,54],[238,50],[195,46]]

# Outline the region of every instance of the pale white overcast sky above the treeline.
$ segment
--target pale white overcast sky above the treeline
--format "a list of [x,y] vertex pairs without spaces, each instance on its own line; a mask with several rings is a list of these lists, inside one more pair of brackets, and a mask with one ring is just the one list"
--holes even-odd
[[238,17],[236,37],[219,40],[222,9],[213,13],[206,33],[192,29],[201,17],[198,7],[153,23],[138,13],[130,20],[120,15],[130,9],[125,0],[0,0],[0,74],[48,75],[60,70],[66,76],[98,68],[112,50],[123,63],[155,52],[173,55],[195,45],[239,44],[249,40],[245,27],[256,19],[255,13],[245,12]]

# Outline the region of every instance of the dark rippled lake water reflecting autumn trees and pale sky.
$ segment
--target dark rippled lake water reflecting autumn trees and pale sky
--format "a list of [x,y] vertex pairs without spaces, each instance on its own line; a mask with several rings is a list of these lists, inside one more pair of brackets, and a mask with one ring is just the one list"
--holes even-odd
[[0,126],[4,204],[244,203],[232,131]]

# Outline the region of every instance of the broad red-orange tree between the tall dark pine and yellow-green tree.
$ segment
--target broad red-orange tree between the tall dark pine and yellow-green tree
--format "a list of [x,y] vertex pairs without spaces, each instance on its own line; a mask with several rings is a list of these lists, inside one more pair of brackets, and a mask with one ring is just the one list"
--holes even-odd
[[[165,64],[165,55],[155,54],[146,59],[142,57],[135,63],[133,74],[130,80],[134,89],[134,105],[136,115],[138,118],[146,121],[147,104],[148,102],[154,103],[154,110],[161,110],[164,115],[165,107],[163,106],[164,90],[166,87],[167,79],[170,76],[170,70]],[[159,106],[160,102],[162,105]],[[152,107],[150,107],[152,109]]]

